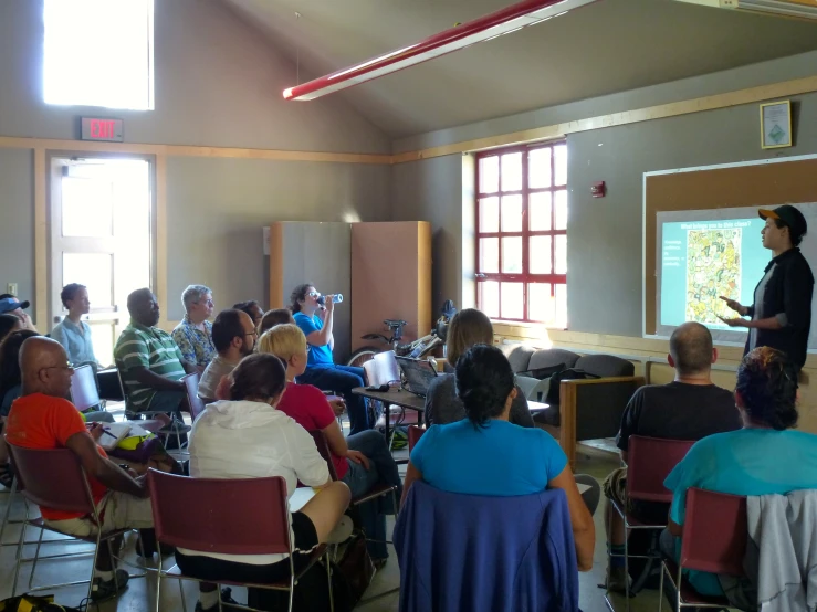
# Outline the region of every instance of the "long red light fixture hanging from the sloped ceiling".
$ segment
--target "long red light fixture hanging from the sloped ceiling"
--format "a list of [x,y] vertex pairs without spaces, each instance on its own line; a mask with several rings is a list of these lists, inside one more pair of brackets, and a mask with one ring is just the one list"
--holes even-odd
[[315,99],[366,81],[427,62],[440,55],[510,34],[522,28],[591,4],[598,0],[523,0],[494,13],[457,25],[439,34],[336,71],[303,85],[284,89],[285,99]]

